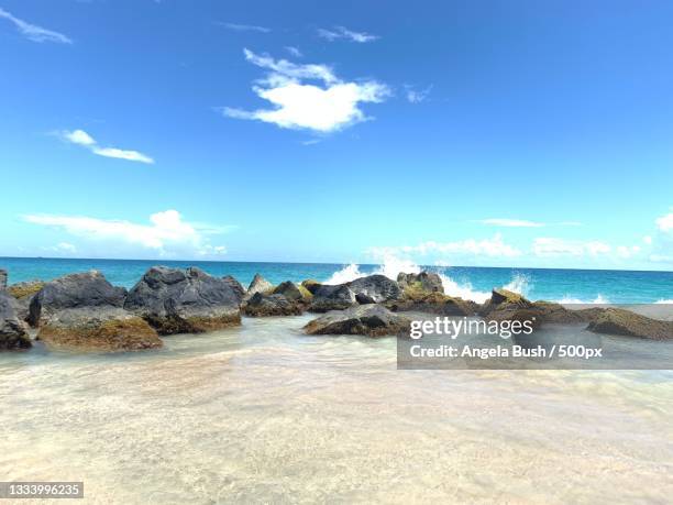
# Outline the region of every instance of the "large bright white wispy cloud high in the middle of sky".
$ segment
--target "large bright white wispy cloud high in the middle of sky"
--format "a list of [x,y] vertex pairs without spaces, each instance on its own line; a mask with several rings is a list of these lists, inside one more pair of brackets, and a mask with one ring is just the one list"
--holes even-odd
[[230,118],[327,133],[369,119],[360,109],[360,103],[378,103],[390,95],[387,86],[374,80],[342,81],[327,65],[297,65],[249,50],[244,50],[244,54],[253,65],[269,70],[264,79],[256,81],[253,90],[275,107],[254,111],[223,108],[222,112]]

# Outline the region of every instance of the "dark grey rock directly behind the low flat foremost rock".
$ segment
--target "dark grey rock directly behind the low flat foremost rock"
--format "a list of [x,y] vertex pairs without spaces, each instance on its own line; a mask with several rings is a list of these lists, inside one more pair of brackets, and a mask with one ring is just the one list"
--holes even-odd
[[400,295],[401,290],[395,281],[385,275],[369,275],[345,284],[320,286],[313,294],[310,310],[342,310],[357,305],[361,303],[358,299],[363,304],[383,304],[397,299]]

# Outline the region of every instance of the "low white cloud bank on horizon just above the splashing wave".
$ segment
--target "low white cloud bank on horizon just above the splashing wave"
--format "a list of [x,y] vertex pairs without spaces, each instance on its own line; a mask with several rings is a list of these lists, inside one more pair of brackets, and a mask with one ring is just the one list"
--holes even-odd
[[490,239],[466,239],[455,242],[421,242],[418,245],[401,245],[395,248],[369,248],[367,250],[372,255],[385,254],[439,254],[439,255],[478,255],[489,257],[514,257],[519,256],[521,251],[512,245],[505,243],[503,235],[496,233]]

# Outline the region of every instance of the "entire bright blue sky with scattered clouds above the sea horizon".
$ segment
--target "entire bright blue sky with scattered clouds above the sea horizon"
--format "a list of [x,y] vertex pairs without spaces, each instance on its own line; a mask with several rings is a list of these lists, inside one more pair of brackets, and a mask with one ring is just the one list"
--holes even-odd
[[0,0],[0,255],[673,270],[671,23]]

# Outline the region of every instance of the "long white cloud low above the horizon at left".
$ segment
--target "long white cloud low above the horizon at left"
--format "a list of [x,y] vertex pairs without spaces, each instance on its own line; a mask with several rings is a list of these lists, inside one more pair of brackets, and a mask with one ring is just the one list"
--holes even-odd
[[[223,254],[223,245],[211,245],[208,235],[220,234],[227,228],[187,222],[177,210],[150,216],[148,224],[125,220],[108,220],[84,216],[27,215],[23,220],[63,230],[89,242],[123,243],[152,250],[159,255],[192,254],[198,256]],[[66,242],[62,250],[66,250]],[[68,244],[69,245],[69,244]]]

